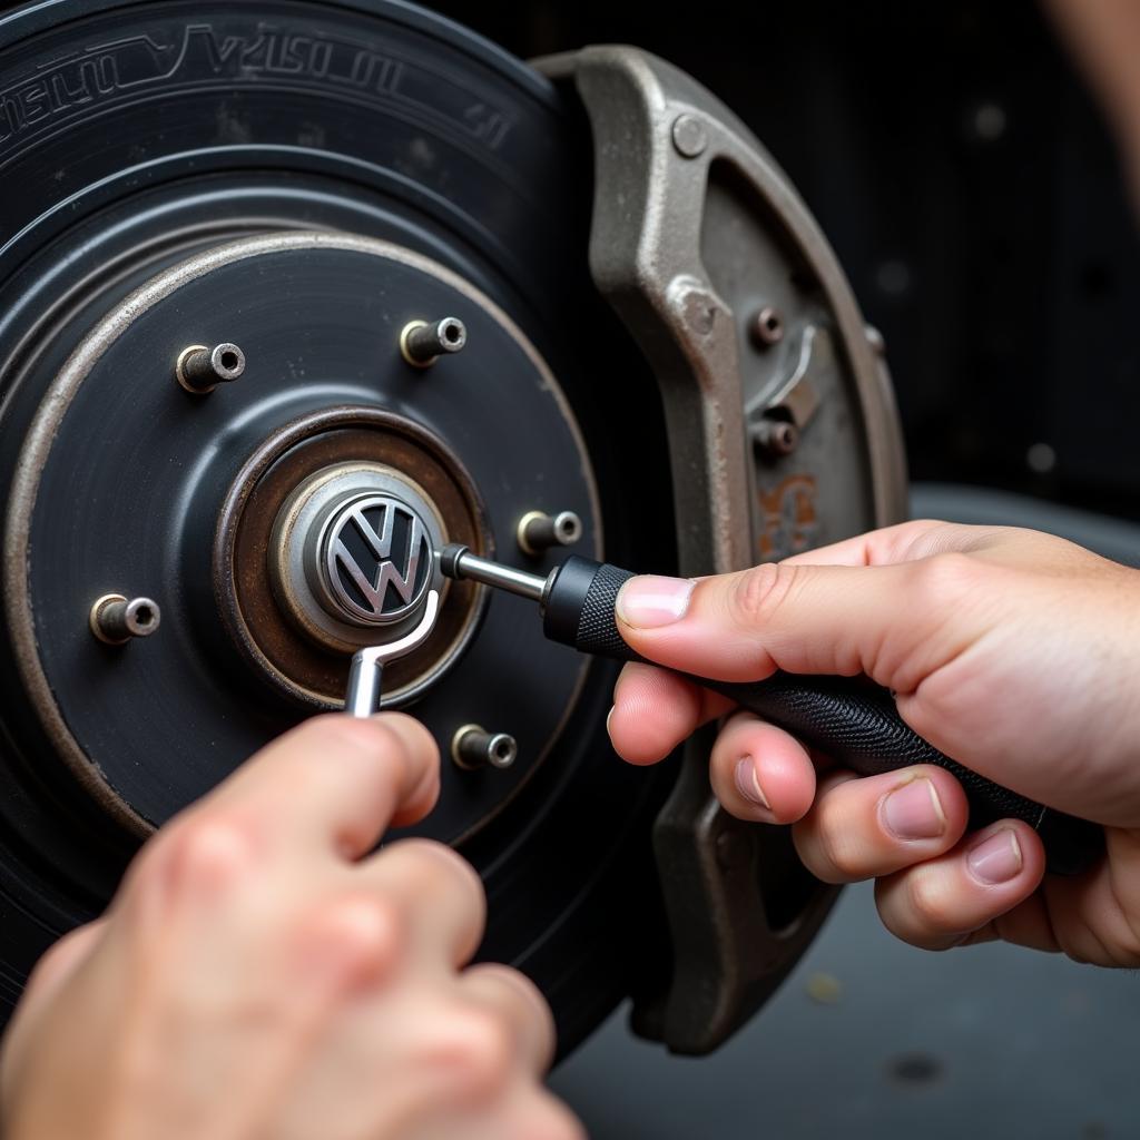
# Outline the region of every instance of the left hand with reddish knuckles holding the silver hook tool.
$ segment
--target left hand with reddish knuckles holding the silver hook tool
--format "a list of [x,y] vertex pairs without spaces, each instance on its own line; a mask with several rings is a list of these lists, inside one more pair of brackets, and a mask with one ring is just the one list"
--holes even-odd
[[369,854],[438,792],[435,744],[406,716],[319,717],[261,751],[41,960],[3,1047],[0,1132],[580,1137],[539,1081],[538,991],[463,969],[478,876],[425,840]]

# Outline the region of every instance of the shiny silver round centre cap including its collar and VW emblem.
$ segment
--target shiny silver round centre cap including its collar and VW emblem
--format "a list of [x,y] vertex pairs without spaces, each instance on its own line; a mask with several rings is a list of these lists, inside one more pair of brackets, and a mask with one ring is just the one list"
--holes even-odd
[[318,471],[280,508],[269,548],[274,592],[290,619],[329,649],[396,641],[442,576],[433,552],[447,524],[427,492],[380,464]]

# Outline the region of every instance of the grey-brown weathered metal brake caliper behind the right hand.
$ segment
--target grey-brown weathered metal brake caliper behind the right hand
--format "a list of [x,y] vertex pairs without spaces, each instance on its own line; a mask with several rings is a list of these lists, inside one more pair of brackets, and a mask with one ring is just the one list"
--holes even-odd
[[[635,48],[538,66],[572,83],[589,115],[591,268],[660,386],[682,572],[739,570],[903,518],[885,366],[826,241],[763,147],[690,76]],[[773,310],[781,335],[758,343],[755,321]],[[746,408],[787,400],[821,335],[837,351],[814,355],[793,454],[754,454]],[[763,1003],[836,897],[797,874],[784,829],[719,808],[710,741],[690,741],[658,819],[674,974],[669,992],[635,1012],[640,1032],[691,1053]]]

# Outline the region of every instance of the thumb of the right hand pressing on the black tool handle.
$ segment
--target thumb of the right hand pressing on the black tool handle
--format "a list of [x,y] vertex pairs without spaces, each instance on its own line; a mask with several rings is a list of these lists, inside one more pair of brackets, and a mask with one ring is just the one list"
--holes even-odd
[[854,676],[911,693],[975,635],[962,554],[878,567],[767,562],[690,581],[632,578],[618,628],[651,661],[717,681]]

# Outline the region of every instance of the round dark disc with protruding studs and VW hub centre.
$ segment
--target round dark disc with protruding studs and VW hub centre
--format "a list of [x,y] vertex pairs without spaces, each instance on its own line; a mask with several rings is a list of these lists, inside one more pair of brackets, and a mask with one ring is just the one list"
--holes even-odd
[[[381,310],[373,299],[382,296],[400,300]],[[439,311],[462,316],[470,343],[438,367],[414,367],[400,331]],[[186,391],[184,347],[219,341],[241,345],[241,377]],[[507,391],[518,418],[497,394]],[[100,437],[88,430],[92,416],[107,424]],[[136,486],[124,496],[128,440]],[[242,710],[254,698],[241,659],[251,682],[282,698],[340,708],[351,653],[406,634],[429,588],[446,588],[432,635],[385,670],[385,703],[420,701],[445,752],[462,725],[511,727],[518,763],[478,788],[456,771],[450,807],[445,791],[433,819],[438,828],[449,817],[450,838],[470,833],[556,742],[584,665],[547,645],[537,625],[489,619],[484,591],[445,587],[432,552],[445,542],[491,551],[492,535],[511,536],[552,479],[596,544],[589,461],[557,382],[466,282],[349,236],[270,234],[207,249],[117,302],[36,413],[9,524],[22,552],[9,563],[9,612],[36,712],[105,809],[136,829],[161,823],[252,750]],[[494,489],[492,506],[480,484]],[[108,657],[67,622],[34,626],[33,614],[78,611],[80,598],[87,622],[120,584],[117,593],[145,593],[162,608],[162,635],[146,645]],[[504,640],[520,654],[508,671],[542,670],[524,710],[508,687],[475,679],[504,676]],[[455,684],[443,684],[461,662]],[[137,715],[171,686],[201,702],[204,719],[234,725],[215,734],[205,763],[177,718]],[[150,774],[156,748],[182,754],[162,781]]]

